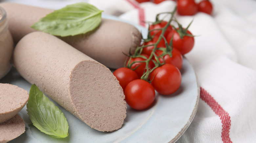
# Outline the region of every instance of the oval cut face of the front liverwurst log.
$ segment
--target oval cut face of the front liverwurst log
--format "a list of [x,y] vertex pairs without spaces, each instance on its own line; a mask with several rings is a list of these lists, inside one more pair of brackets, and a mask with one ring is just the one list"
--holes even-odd
[[126,102],[116,77],[95,61],[78,63],[71,73],[70,94],[77,117],[98,131],[121,128]]

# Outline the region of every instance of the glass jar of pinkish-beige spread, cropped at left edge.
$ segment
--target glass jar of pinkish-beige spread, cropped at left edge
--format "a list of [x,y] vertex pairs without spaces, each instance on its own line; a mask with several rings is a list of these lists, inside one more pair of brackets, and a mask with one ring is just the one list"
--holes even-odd
[[11,69],[11,56],[13,53],[13,40],[8,30],[6,11],[0,7],[0,79]]

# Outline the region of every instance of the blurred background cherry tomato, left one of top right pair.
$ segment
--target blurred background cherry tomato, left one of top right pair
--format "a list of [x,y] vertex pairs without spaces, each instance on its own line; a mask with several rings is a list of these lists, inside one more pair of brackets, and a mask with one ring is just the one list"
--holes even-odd
[[195,15],[197,13],[195,0],[178,0],[177,12],[180,15]]

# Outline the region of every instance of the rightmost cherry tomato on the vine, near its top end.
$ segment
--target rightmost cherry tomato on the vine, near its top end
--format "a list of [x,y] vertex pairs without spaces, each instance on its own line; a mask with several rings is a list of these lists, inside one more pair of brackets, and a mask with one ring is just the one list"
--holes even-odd
[[[179,30],[179,28],[177,28]],[[191,34],[189,30],[186,31],[187,34]],[[173,36],[173,47],[181,52],[181,55],[184,55],[192,50],[194,47],[195,39],[193,36],[183,36],[181,39],[179,33],[176,30],[172,30],[168,36],[167,41],[170,41]]]

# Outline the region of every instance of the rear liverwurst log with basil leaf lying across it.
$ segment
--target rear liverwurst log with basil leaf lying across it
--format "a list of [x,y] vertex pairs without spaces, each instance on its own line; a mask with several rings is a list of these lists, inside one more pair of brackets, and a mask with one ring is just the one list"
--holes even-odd
[[[15,42],[35,31],[30,26],[40,18],[53,12],[52,9],[38,8],[14,3],[0,3],[7,11],[9,29]],[[140,44],[139,30],[124,22],[102,19],[99,27],[88,34],[59,37],[82,53],[109,68],[123,67],[126,55]]]

